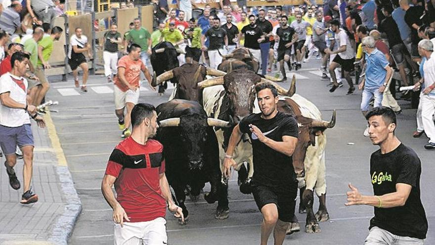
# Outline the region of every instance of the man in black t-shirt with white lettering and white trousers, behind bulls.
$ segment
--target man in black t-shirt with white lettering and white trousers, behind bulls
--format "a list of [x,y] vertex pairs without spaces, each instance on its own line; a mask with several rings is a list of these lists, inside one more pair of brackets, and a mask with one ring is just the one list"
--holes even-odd
[[242,35],[245,36],[245,48],[249,49],[251,51],[252,55],[260,60],[261,59],[261,53],[260,53],[260,43],[265,40],[265,37],[263,35],[263,32],[261,31],[260,27],[255,23],[255,16],[250,15],[249,16],[249,25],[244,26],[242,28],[242,31],[239,33],[239,42],[242,38]]

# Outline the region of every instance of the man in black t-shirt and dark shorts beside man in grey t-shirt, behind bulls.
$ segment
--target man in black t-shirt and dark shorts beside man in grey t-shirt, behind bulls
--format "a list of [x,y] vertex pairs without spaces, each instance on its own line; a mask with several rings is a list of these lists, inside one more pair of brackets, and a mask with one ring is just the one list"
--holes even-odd
[[289,69],[291,69],[292,63],[290,61],[290,55],[292,55],[292,45],[298,40],[298,35],[296,34],[295,29],[288,26],[287,22],[288,17],[286,15],[279,18],[280,27],[276,30],[275,35],[275,40],[279,42],[277,60],[279,62],[279,68],[281,69],[283,82],[287,80],[284,61],[289,66]]

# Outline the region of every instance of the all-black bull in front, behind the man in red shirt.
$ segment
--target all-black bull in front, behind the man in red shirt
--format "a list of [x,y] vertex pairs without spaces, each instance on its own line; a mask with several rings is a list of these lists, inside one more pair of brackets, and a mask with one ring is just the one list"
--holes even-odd
[[204,198],[208,203],[218,202],[217,218],[227,218],[227,188],[221,183],[218,145],[213,127],[228,127],[228,122],[208,118],[198,102],[183,99],[160,104],[156,111],[160,125],[157,140],[164,147],[166,176],[174,189],[174,199],[183,209],[184,219],[189,217],[184,204],[187,185],[191,188],[191,196],[199,196],[207,182],[210,182],[211,190]]

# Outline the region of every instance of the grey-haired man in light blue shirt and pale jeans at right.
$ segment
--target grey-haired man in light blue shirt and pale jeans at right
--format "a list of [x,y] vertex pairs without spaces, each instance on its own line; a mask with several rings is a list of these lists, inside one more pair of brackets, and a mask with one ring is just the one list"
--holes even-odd
[[[373,107],[382,106],[384,90],[392,76],[392,68],[385,58],[385,55],[375,48],[376,41],[372,37],[362,39],[362,49],[365,54],[366,70],[365,77],[358,88],[362,91],[361,111],[367,114],[370,100],[375,97]],[[369,136],[368,127],[364,131],[364,136]]]

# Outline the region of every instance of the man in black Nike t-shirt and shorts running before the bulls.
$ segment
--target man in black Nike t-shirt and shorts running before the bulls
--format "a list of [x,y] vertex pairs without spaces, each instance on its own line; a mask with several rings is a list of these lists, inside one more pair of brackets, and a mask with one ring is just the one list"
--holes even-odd
[[261,113],[251,114],[234,127],[223,161],[223,174],[229,176],[236,162],[232,154],[243,134],[252,142],[254,175],[251,186],[263,216],[261,245],[266,245],[274,229],[275,245],[282,245],[295,213],[298,183],[292,155],[298,143],[298,123],[278,112],[278,92],[270,83],[255,86]]

